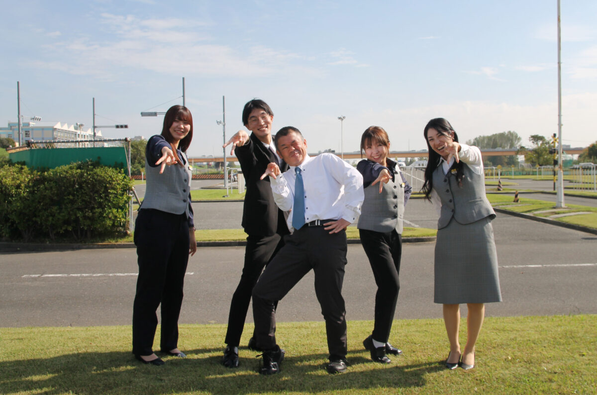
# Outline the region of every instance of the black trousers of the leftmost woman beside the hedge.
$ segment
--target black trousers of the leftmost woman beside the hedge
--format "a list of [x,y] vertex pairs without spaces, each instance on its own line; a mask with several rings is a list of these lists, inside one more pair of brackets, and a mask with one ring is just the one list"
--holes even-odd
[[141,209],[135,223],[137,292],[133,304],[133,353],[153,353],[161,303],[161,350],[177,348],[184,273],[189,261],[186,215]]

